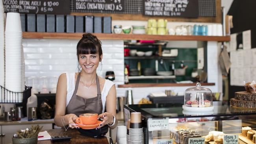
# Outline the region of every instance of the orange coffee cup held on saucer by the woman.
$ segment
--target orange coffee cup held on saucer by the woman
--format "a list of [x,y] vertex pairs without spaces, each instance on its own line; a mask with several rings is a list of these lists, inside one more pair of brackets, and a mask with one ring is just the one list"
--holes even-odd
[[98,120],[97,113],[84,113],[80,114],[78,118],[76,118],[77,124],[84,124],[84,125],[92,125],[96,124]]

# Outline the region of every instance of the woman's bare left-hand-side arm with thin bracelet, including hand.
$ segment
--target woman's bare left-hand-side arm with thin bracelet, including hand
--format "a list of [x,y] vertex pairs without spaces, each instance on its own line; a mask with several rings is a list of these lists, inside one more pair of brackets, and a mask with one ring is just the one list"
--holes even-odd
[[[54,123],[56,126],[63,127],[74,122],[77,118],[75,114],[67,114],[66,112],[66,101],[67,101],[67,77],[66,74],[59,76],[57,91],[56,91],[56,110],[54,116]],[[71,126],[74,128],[75,126]]]

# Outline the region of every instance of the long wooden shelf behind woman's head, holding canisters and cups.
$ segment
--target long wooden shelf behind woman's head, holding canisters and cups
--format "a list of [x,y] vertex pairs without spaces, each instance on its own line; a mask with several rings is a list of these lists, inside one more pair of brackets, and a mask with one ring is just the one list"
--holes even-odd
[[[202,35],[134,35],[115,33],[93,33],[100,40],[156,40],[156,41],[230,41],[230,36]],[[28,39],[81,39],[83,33],[23,32]]]

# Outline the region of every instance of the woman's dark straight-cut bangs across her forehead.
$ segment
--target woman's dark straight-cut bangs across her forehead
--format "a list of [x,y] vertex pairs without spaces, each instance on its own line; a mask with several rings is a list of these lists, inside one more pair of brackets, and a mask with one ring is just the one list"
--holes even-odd
[[79,54],[98,54],[98,50],[95,46],[95,44],[93,44],[92,42],[82,42],[79,46],[78,46],[78,55]]

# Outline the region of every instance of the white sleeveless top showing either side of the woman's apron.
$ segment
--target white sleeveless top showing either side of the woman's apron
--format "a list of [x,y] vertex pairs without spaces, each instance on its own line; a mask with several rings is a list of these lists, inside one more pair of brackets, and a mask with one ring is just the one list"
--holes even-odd
[[[75,73],[66,73],[67,76],[67,103],[66,107],[69,104],[69,101],[71,100],[71,97],[74,93],[75,90]],[[101,92],[101,100],[102,100],[102,113],[105,112],[105,107],[106,107],[106,97],[108,96],[108,92],[112,85],[114,85],[113,81],[110,81],[106,79],[102,92]]]

